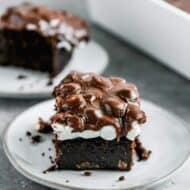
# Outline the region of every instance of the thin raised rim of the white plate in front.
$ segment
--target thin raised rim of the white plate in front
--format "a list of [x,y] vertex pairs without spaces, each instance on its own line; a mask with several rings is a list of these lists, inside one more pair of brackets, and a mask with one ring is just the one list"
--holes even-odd
[[[25,171],[25,169],[22,166],[19,165],[18,161],[14,158],[14,156],[12,156],[11,152],[9,151],[9,148],[8,148],[8,145],[7,145],[7,140],[8,140],[7,135],[8,135],[9,129],[11,128],[12,124],[19,117],[22,117],[25,114],[25,112],[30,111],[31,109],[33,109],[36,106],[40,106],[42,104],[47,104],[48,102],[52,102],[52,101],[53,101],[53,99],[49,99],[49,100],[45,100],[45,101],[42,101],[40,103],[37,103],[37,104],[29,107],[28,109],[24,110],[20,114],[18,114],[11,122],[9,122],[7,124],[7,127],[5,127],[5,129],[3,130],[2,135],[1,135],[1,137],[2,137],[2,144],[3,144],[3,150],[5,152],[5,155],[8,158],[9,162],[11,163],[11,165],[20,174],[22,174],[24,177],[30,179],[33,182],[36,182],[36,183],[41,184],[41,185],[44,185],[46,187],[55,188],[55,189],[58,189],[58,190],[66,190],[65,188],[67,188],[67,189],[74,189],[74,190],[84,190],[83,187],[76,187],[76,186],[72,187],[72,186],[69,186],[69,185],[65,185],[65,184],[63,185],[63,184],[59,184],[59,183],[56,183],[56,182],[50,182],[50,181],[48,181],[46,179],[41,179],[39,177],[36,177],[32,173],[29,173],[29,172]],[[183,128],[190,135],[190,129],[188,128],[187,122],[184,121],[182,118],[180,118],[178,115],[176,115],[175,113],[169,111],[168,109],[165,109],[164,107],[162,107],[162,106],[160,106],[160,105],[158,105],[158,104],[156,104],[154,102],[151,102],[151,101],[148,101],[148,100],[145,100],[145,99],[142,99],[142,102],[145,102],[147,104],[156,106],[158,109],[164,110],[167,115],[175,117],[177,120],[179,120],[181,122],[181,127],[183,126]],[[189,160],[190,160],[190,150],[186,153],[186,155],[184,156],[184,159],[180,162],[180,164],[177,167],[175,167],[174,169],[172,169],[166,175],[161,176],[158,179],[152,180],[150,182],[143,183],[141,185],[131,186],[130,188],[126,188],[126,187],[112,187],[112,189],[113,190],[135,190],[135,189],[139,189],[139,188],[140,189],[142,189],[142,188],[151,188],[153,186],[156,186],[158,184],[161,184],[161,183],[167,181],[172,176],[176,175],[179,172],[180,169],[184,168],[184,166],[188,163]],[[85,189],[86,190],[95,190],[94,188],[85,188]],[[98,190],[107,190],[107,189],[105,189],[105,188],[98,188]]]

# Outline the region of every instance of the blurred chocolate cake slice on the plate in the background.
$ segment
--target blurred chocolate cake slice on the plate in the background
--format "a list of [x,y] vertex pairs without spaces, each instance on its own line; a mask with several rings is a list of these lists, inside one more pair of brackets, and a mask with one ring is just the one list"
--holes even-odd
[[79,17],[24,3],[0,18],[0,64],[55,76],[88,40],[89,28]]

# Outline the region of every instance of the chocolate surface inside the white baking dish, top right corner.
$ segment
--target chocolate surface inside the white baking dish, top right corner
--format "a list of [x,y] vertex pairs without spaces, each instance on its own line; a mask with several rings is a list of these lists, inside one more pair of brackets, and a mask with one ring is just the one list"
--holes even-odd
[[166,0],[166,1],[168,3],[174,5],[177,8],[190,13],[190,1],[189,0]]

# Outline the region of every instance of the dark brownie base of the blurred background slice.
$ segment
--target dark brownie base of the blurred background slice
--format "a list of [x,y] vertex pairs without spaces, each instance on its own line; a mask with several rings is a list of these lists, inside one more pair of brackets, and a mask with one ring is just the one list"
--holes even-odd
[[4,45],[0,47],[1,65],[48,72],[55,76],[68,63],[72,52],[54,47],[51,38],[35,31],[4,29],[0,32]]

